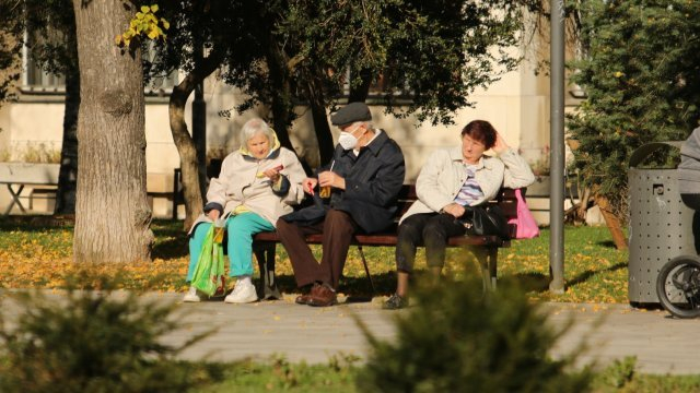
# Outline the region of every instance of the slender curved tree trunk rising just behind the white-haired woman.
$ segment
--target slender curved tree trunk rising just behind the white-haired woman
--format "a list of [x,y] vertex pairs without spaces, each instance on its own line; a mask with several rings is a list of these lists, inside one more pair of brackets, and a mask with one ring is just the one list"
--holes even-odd
[[199,180],[199,160],[197,159],[197,148],[185,122],[185,105],[187,97],[192,93],[197,84],[211,75],[219,68],[223,60],[223,53],[215,48],[211,53],[202,59],[200,67],[194,69],[183,82],[180,82],[171,94],[168,105],[168,116],[173,141],[179,153],[179,167],[183,179],[183,194],[185,196],[185,223],[188,229],[192,223],[203,212],[203,196]]

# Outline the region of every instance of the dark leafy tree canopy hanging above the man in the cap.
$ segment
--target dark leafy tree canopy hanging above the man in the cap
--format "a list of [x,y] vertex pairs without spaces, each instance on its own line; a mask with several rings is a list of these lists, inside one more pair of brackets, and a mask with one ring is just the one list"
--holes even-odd
[[[304,76],[303,69],[324,71],[311,75],[327,76],[329,104],[346,82],[354,90],[381,80],[381,104],[388,112],[447,123],[455,110],[472,105],[476,87],[516,64],[505,49],[517,44],[520,5],[510,0],[296,0],[290,1],[279,32],[290,43],[298,76]],[[399,102],[406,93],[410,100]]]

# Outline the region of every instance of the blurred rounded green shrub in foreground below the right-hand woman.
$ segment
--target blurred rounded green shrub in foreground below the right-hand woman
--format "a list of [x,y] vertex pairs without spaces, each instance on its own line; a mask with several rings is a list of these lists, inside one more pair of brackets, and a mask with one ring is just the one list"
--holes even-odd
[[[592,373],[572,370],[576,355],[548,353],[568,327],[555,330],[547,314],[517,289],[483,297],[467,278],[419,289],[396,314],[396,340],[364,334],[372,347],[358,377],[362,392],[583,392]],[[582,350],[582,348],[579,348]]]

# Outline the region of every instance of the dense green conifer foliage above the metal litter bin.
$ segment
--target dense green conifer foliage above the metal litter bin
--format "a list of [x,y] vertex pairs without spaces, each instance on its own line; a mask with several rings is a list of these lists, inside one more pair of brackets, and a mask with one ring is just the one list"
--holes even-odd
[[698,127],[700,3],[586,0],[579,12],[586,52],[572,63],[572,81],[587,99],[568,121],[580,141],[575,165],[619,204],[637,147],[685,140]]

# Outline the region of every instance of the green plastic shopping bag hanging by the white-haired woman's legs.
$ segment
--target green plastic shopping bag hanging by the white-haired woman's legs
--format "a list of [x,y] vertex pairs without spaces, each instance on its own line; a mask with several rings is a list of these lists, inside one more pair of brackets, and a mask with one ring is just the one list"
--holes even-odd
[[215,230],[223,230],[223,227],[212,225],[207,231],[191,284],[208,296],[214,295],[218,289],[225,289],[223,246],[220,241],[214,241]]

